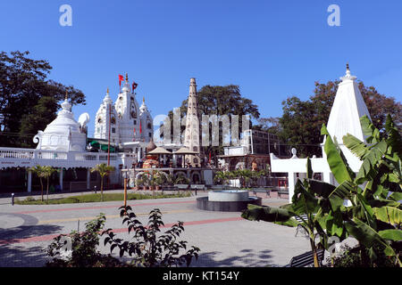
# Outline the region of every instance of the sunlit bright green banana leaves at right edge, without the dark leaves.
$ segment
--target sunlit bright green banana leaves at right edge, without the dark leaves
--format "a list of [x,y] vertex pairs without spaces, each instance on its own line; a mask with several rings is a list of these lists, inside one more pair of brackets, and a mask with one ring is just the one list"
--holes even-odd
[[[384,134],[366,116],[361,118],[361,125],[366,142],[351,134],[343,137],[348,149],[362,160],[356,175],[350,172],[337,143],[331,140],[326,127],[322,126],[324,151],[339,186],[327,199],[332,207],[322,207],[320,216],[326,223],[331,220],[331,215],[341,216],[335,226],[342,226],[348,235],[355,237],[372,261],[376,259],[373,246],[378,244],[385,255],[394,256],[400,266],[398,250],[392,245],[402,241],[402,211],[398,202],[401,199],[401,137],[390,116],[387,117]],[[343,207],[340,204],[342,199],[350,200],[352,206]],[[322,205],[326,204],[322,202]],[[328,232],[329,228],[326,227],[326,230]],[[364,251],[361,251],[362,260],[366,255]]]

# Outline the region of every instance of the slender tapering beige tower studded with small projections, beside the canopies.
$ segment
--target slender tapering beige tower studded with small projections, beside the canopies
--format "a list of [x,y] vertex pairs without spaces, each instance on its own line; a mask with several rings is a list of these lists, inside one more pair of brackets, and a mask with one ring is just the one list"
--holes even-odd
[[184,146],[190,151],[197,152],[195,155],[186,155],[186,164],[190,165],[191,167],[200,167],[201,161],[196,78],[190,79]]

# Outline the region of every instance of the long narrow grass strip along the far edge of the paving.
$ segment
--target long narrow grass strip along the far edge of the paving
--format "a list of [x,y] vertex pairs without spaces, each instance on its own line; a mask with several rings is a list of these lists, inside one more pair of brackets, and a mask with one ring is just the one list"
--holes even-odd
[[[189,192],[179,193],[179,194],[139,194],[139,193],[127,193],[127,199],[163,199],[163,198],[182,198],[189,197]],[[123,193],[104,193],[104,202],[107,201],[122,201],[124,199]],[[15,199],[15,204],[18,205],[54,205],[54,204],[75,204],[75,203],[91,203],[91,202],[100,202],[101,194],[81,194],[77,196],[71,196],[66,198],[59,199],[49,199],[46,202],[46,198],[44,201],[39,199],[34,199],[32,197],[28,197],[27,199]]]

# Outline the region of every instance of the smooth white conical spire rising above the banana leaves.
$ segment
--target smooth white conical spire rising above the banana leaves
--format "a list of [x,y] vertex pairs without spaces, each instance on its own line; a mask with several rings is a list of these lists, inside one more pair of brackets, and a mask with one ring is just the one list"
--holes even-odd
[[335,136],[339,143],[342,143],[342,137],[346,134],[353,134],[364,141],[360,118],[364,115],[370,118],[370,114],[356,83],[356,77],[350,74],[348,65],[346,75],[340,79],[342,82],[339,83],[328,119],[328,132],[331,137]]

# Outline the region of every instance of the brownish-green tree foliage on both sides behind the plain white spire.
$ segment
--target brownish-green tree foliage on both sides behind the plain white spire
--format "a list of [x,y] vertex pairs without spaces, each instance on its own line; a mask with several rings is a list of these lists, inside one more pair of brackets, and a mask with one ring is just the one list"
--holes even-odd
[[[280,118],[260,118],[259,126],[277,134],[284,143],[296,147],[299,156],[320,156],[321,126],[328,122],[338,85],[339,81],[329,81],[326,84],[315,82],[314,95],[309,100],[303,101],[297,96],[289,97],[282,102],[283,114]],[[380,94],[373,86],[365,86],[361,81],[358,81],[358,87],[375,127],[382,132],[385,128],[385,114],[390,114],[395,125],[400,128],[400,102]]]

